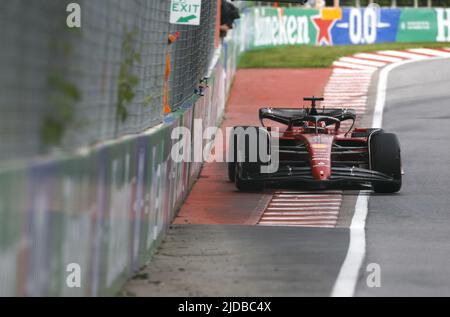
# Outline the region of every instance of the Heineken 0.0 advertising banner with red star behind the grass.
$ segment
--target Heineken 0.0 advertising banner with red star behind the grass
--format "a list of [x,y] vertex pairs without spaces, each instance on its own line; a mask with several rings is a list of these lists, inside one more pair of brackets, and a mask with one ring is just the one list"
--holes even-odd
[[281,45],[360,45],[450,41],[450,9],[253,8],[247,49]]

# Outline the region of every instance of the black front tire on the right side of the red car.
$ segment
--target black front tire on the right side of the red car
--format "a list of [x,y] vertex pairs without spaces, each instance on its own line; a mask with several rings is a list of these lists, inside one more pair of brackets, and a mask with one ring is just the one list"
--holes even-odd
[[393,194],[402,187],[402,159],[400,142],[395,134],[380,133],[370,140],[372,170],[389,175],[393,181],[373,182],[379,194]]

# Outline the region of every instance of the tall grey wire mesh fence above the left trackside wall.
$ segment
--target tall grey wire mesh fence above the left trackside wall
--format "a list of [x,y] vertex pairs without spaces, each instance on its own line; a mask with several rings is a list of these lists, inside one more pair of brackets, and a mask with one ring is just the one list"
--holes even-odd
[[[81,7],[68,28],[67,5]],[[0,1],[0,160],[29,158],[138,133],[163,119],[167,37],[169,101],[178,107],[206,75],[217,1],[201,26],[169,24],[170,0]]]

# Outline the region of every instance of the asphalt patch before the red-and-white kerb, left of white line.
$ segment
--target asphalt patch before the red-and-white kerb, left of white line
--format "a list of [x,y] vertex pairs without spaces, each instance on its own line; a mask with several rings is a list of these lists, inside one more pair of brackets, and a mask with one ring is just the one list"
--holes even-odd
[[346,229],[176,225],[129,296],[329,296]]

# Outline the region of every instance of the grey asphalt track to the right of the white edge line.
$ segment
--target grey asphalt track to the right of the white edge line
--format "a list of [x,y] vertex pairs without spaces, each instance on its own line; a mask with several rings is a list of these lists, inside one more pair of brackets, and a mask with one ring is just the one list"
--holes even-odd
[[366,263],[381,287],[356,296],[450,296],[450,59],[391,71],[383,128],[398,134],[406,172],[400,194],[372,196]]

